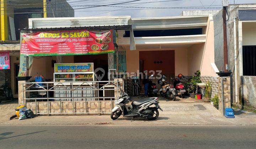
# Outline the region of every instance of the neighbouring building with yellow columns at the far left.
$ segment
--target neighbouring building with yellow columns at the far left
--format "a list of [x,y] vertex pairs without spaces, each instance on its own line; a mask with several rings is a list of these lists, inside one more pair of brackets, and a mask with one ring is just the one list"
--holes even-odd
[[29,18],[74,17],[74,10],[66,0],[34,0],[31,4],[1,0],[0,13],[0,51],[9,51],[10,55],[10,69],[0,70],[0,84],[10,84],[17,97],[18,83],[15,77],[20,65],[20,29],[29,26]]

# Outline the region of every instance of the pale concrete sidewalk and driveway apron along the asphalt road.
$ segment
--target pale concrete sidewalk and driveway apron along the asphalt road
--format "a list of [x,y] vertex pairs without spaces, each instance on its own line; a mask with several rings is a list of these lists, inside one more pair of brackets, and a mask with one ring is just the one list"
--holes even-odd
[[[198,110],[194,105],[201,104],[206,110]],[[131,118],[120,116],[112,120],[110,115],[63,115],[63,116],[37,116],[31,119],[8,120],[14,115],[17,103],[11,102],[0,105],[0,125],[256,125],[256,114],[236,110],[235,118],[225,118],[210,103],[194,102],[193,99],[180,101],[160,100],[164,110],[159,111],[159,118],[148,121],[144,118]],[[8,110],[5,107],[9,107]],[[5,113],[3,115],[2,113]]]

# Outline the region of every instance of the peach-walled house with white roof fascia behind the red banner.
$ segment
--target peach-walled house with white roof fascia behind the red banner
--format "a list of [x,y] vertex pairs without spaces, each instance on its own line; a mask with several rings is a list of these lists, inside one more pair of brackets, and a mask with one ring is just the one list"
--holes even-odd
[[[113,53],[98,55],[64,55],[59,61],[58,55],[34,56],[28,71],[29,76],[42,74],[48,81],[53,81],[54,62],[57,63],[94,63],[101,80],[110,80],[109,72],[118,72],[127,80],[127,91],[130,92],[129,80],[136,72],[139,76],[144,70],[161,71],[160,75],[169,78],[182,73],[192,76],[201,70],[202,76],[216,76],[211,63],[213,55],[213,22],[212,16],[175,16],[161,18],[131,18],[130,16],[89,17],[89,18],[33,18],[30,19],[31,31],[42,31],[46,28],[70,29],[72,22],[78,26],[88,24],[98,26],[87,28],[91,31],[108,29],[109,25],[118,27],[118,50]],[[51,22],[49,25],[49,21]],[[65,21],[65,24],[61,23]],[[122,28],[130,26],[130,28]],[[37,29],[42,28],[42,29]],[[64,29],[65,28],[65,29]],[[49,29],[48,29],[49,30]],[[41,66],[40,64],[47,64]],[[39,67],[40,65],[40,67]],[[117,67],[118,66],[118,67]],[[102,68],[102,69],[97,69]],[[104,70],[105,74],[102,72]],[[95,81],[98,79],[95,78]],[[154,80],[157,81],[156,79]],[[141,85],[143,86],[143,85]],[[143,90],[143,88],[141,88]]]

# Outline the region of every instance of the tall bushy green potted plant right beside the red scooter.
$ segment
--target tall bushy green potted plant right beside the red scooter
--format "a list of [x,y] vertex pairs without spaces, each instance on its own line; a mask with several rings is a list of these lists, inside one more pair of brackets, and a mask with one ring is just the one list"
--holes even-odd
[[202,83],[200,75],[200,70],[196,71],[194,73],[194,76],[191,79],[189,79],[187,83],[185,83],[185,89],[187,90],[191,98],[195,98],[197,83]]

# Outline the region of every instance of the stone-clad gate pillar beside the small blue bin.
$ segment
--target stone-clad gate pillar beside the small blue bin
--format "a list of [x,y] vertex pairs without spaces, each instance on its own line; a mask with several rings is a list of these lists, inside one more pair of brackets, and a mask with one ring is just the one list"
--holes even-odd
[[225,108],[231,107],[230,77],[218,77],[219,111],[225,114]]

